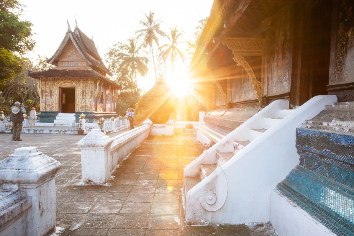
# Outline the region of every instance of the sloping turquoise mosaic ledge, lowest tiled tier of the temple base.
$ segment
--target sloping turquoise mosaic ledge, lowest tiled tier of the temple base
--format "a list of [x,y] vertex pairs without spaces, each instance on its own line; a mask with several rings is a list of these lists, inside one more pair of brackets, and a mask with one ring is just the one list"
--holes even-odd
[[293,169],[277,189],[337,235],[354,235],[354,196],[345,185],[309,171]]

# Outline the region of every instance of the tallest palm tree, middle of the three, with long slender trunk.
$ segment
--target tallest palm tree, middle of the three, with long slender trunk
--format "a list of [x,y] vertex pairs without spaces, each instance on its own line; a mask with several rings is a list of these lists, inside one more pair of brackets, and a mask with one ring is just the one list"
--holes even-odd
[[142,19],[140,21],[140,24],[143,25],[143,29],[139,29],[136,31],[136,34],[138,34],[137,38],[144,38],[143,39],[143,46],[150,47],[150,52],[152,53],[153,57],[153,63],[154,63],[154,68],[155,68],[155,81],[157,81],[157,73],[156,73],[156,64],[155,64],[155,58],[154,58],[154,50],[153,50],[153,44],[159,46],[159,39],[157,38],[157,35],[160,36],[166,36],[165,32],[160,29],[160,24],[161,24],[161,18],[155,20],[154,16],[155,13],[150,11],[149,15],[144,14],[146,19]]

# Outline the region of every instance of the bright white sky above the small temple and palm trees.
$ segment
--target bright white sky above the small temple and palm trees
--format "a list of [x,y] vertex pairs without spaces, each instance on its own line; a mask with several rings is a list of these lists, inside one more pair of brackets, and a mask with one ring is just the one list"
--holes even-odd
[[[104,54],[115,42],[126,42],[141,29],[139,19],[144,13],[155,12],[155,17],[163,20],[161,28],[170,27],[183,30],[181,41],[193,40],[198,21],[208,17],[212,0],[19,0],[25,4],[22,19],[32,22],[33,37],[36,40],[34,50],[27,54],[35,59],[37,55],[51,57],[57,50],[67,31],[67,18],[72,29],[75,20],[79,28],[98,46],[98,52],[104,61]],[[188,67],[188,64],[185,65]],[[181,69],[183,70],[183,69]],[[152,73],[151,73],[152,72]],[[166,75],[167,76],[167,75]],[[169,83],[169,78],[165,78]],[[139,87],[145,91],[154,84],[153,68],[145,79],[140,78]]]

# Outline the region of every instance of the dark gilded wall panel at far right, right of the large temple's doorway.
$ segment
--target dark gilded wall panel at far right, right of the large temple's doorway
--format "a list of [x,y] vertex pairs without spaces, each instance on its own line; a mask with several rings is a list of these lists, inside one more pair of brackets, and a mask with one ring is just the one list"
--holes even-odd
[[333,4],[329,94],[338,100],[354,100],[354,1]]

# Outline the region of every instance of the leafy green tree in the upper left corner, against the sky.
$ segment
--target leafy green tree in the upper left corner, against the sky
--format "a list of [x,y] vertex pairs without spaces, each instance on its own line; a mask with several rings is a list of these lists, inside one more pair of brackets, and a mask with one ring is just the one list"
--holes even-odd
[[24,67],[21,55],[32,50],[32,23],[22,21],[24,5],[17,0],[0,1],[0,81],[13,79]]

